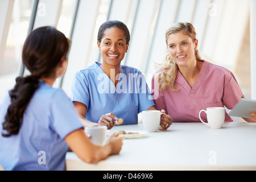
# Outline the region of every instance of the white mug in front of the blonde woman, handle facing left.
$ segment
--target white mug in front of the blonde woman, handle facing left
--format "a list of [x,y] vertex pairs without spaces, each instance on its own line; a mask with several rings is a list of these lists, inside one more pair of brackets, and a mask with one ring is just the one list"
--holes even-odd
[[[204,111],[207,114],[207,121],[205,123],[201,119],[201,112]],[[199,119],[205,125],[210,126],[211,129],[220,129],[225,121],[225,108],[224,107],[207,107],[207,110],[200,110]]]

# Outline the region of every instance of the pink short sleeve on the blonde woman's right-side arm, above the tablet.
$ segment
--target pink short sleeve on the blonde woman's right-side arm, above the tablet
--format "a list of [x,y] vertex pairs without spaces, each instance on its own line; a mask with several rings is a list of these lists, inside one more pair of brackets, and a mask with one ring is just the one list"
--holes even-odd
[[237,102],[241,100],[243,93],[232,72],[230,72],[229,78],[225,76],[224,79],[223,103],[228,109],[233,109]]

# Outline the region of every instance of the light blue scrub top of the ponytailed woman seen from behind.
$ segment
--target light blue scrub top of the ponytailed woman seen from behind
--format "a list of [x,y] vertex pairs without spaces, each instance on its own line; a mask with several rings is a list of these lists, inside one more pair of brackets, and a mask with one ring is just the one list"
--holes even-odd
[[[10,96],[0,106],[0,133]],[[61,89],[40,81],[23,115],[17,135],[0,134],[0,164],[9,170],[64,170],[68,145],[64,138],[82,128],[72,101]]]

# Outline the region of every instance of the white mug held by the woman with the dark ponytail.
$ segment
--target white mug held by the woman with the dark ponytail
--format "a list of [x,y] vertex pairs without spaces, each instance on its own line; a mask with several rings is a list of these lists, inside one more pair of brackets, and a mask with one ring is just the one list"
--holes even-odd
[[103,145],[106,140],[106,126],[92,126],[85,127],[85,134],[89,137],[91,136],[90,141],[96,145]]

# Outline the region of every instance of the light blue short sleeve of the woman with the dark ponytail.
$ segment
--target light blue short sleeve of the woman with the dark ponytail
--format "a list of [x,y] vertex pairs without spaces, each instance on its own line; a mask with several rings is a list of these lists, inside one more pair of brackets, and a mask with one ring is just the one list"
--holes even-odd
[[64,139],[69,133],[82,128],[75,107],[63,90],[53,94],[50,106],[51,127]]

